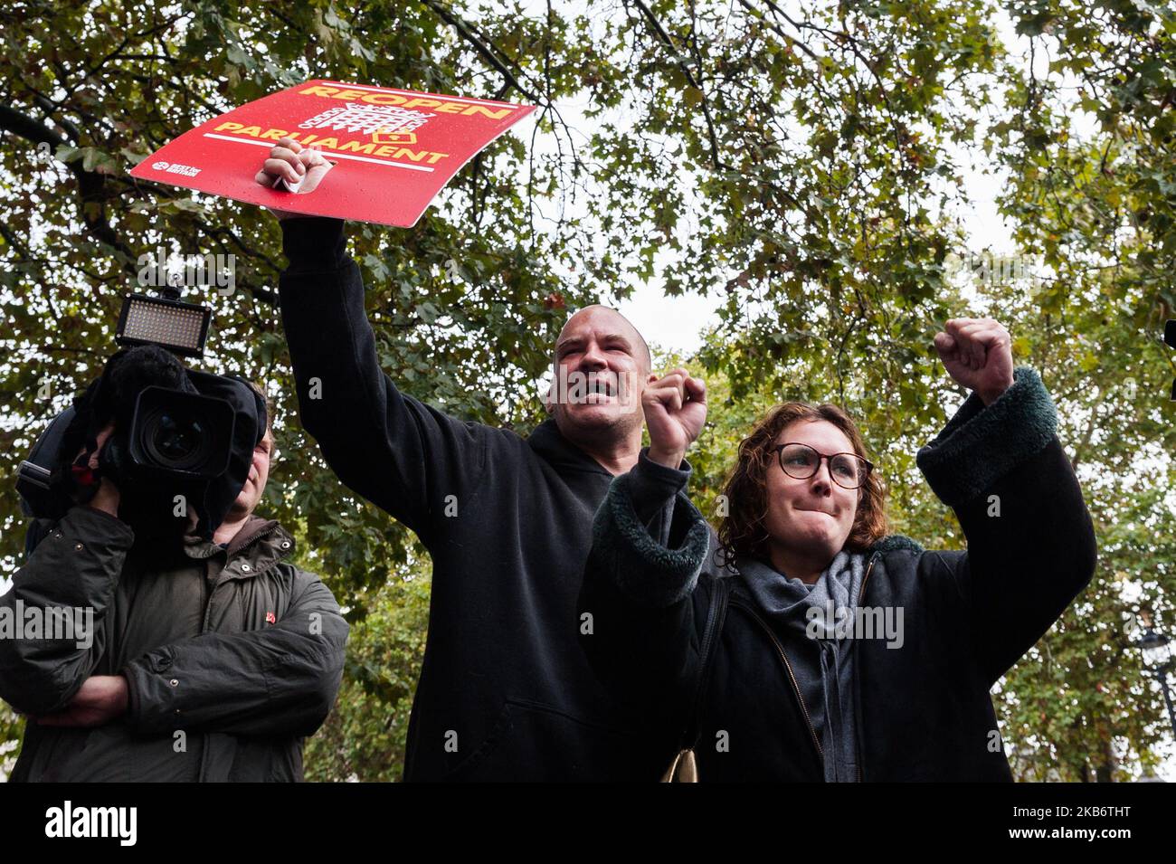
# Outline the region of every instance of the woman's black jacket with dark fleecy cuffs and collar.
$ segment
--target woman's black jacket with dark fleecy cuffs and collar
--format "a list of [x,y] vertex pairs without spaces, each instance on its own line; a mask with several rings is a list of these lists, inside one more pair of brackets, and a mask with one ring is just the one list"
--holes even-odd
[[[970,396],[920,450],[968,550],[924,551],[898,536],[871,550],[858,604],[901,608],[904,642],[853,641],[861,779],[1011,779],[989,690],[1095,569],[1094,527],[1055,426],[1040,377],[1022,368],[991,406]],[[700,779],[820,782],[818,735],[790,669],[815,643],[774,629],[742,577],[715,565],[684,494],[668,544],[655,542],[629,481],[614,481],[596,516],[581,597],[595,622],[581,642],[601,677],[644,714],[668,765],[696,692],[711,594],[726,577],[730,603],[699,711]]]

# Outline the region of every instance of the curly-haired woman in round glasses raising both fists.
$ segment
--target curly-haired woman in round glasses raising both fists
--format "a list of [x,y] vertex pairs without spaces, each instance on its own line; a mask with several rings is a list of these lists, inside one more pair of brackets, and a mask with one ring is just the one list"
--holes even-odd
[[1094,528],[1008,331],[956,319],[935,347],[971,394],[917,463],[965,550],[888,535],[854,421],[801,402],[740,446],[713,542],[683,491],[706,388],[679,369],[647,389],[650,446],[596,514],[580,629],[667,778],[1011,779],[989,691],[1089,582]]

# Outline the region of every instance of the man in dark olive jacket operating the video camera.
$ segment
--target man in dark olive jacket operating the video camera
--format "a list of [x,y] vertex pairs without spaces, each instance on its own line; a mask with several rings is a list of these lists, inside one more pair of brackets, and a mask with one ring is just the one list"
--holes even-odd
[[348,628],[319,577],[288,562],[290,535],[253,514],[272,416],[212,541],[136,537],[102,476],[15,574],[0,609],[87,610],[93,627],[80,639],[0,638],[0,697],[28,715],[13,781],[302,779]]

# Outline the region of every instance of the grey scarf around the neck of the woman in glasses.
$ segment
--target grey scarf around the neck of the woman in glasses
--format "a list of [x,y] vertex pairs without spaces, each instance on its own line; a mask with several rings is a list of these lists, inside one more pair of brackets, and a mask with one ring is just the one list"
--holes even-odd
[[[740,575],[788,652],[796,683],[824,752],[827,783],[857,781],[853,628],[841,638],[828,627],[837,609],[857,605],[868,556],[842,549],[811,585],[756,558],[736,561]],[[820,616],[809,612],[818,609]]]

